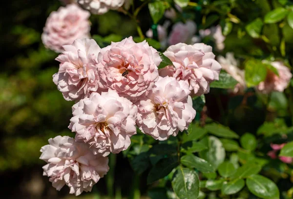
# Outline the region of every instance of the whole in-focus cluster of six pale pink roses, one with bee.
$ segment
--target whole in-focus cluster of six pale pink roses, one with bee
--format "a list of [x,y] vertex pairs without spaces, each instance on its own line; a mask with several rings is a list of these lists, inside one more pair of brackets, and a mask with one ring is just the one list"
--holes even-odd
[[41,159],[53,186],[66,184],[76,195],[107,173],[107,155],[129,147],[136,125],[158,140],[186,130],[196,115],[190,95],[208,93],[221,70],[203,43],[170,46],[164,55],[173,65],[160,70],[157,50],[132,37],[102,49],[77,39],[63,49],[53,81],[65,100],[77,102],[68,126],[76,136],[49,139]]

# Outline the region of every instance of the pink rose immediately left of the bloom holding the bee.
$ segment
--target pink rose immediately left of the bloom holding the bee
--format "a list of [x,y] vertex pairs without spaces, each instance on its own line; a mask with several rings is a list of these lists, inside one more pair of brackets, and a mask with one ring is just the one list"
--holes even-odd
[[99,89],[96,66],[101,48],[96,41],[78,39],[63,48],[63,53],[56,58],[60,62],[60,68],[53,75],[53,81],[64,99],[80,100],[88,97],[91,92],[102,91],[103,89]]

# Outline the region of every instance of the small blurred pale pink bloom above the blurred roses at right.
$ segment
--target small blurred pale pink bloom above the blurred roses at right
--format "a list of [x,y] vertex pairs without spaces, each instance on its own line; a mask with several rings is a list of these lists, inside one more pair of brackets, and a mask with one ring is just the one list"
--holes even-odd
[[212,37],[217,50],[222,51],[225,48],[224,41],[226,37],[222,34],[222,28],[220,25],[205,30],[199,30],[198,32],[202,38]]

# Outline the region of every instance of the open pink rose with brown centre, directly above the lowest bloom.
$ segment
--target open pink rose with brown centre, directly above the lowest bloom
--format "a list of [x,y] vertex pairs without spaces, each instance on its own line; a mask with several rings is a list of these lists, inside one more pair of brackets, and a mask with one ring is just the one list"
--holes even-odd
[[119,153],[130,145],[136,134],[137,107],[112,90],[92,93],[72,107],[68,126],[78,142],[88,143],[94,154]]

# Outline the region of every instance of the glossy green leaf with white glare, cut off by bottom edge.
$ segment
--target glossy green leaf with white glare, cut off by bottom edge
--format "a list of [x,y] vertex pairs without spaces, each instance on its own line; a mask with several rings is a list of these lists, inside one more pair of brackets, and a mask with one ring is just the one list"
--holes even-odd
[[179,167],[172,179],[172,188],[179,199],[197,199],[199,195],[197,173],[191,169]]

